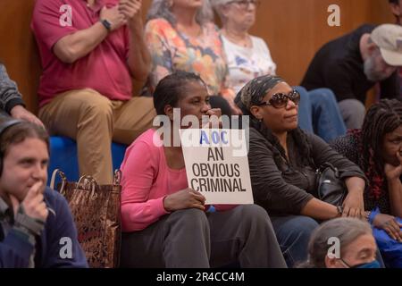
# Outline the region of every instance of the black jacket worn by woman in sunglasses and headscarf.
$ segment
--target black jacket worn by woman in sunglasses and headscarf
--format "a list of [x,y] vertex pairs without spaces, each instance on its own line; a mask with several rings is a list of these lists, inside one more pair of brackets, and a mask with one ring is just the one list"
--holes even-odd
[[[300,214],[315,187],[315,170],[324,163],[339,169],[342,179],[360,177],[364,172],[344,156],[339,155],[322,139],[306,134],[311,145],[310,164],[301,160],[295,139],[288,135],[289,160],[254,128],[249,132],[248,164],[255,204],[263,206],[270,215]],[[275,149],[275,150],[274,150]],[[275,151],[275,152],[274,152]],[[274,154],[277,154],[276,156]]]

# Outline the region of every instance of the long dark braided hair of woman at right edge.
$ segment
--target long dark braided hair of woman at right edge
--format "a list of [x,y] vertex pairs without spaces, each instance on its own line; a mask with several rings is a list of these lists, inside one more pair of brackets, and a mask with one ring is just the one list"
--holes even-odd
[[369,196],[380,198],[384,192],[384,160],[381,156],[385,134],[402,125],[402,102],[382,99],[373,105],[364,117],[360,148],[363,171],[370,181]]

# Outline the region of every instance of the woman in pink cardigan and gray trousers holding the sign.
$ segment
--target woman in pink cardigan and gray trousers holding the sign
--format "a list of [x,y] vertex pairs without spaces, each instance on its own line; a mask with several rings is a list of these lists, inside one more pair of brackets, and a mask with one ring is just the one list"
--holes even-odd
[[[206,85],[193,73],[177,71],[155,88],[158,115],[171,127],[163,136],[147,130],[127,149],[123,163],[121,219],[123,267],[215,267],[239,262],[241,267],[286,267],[268,214],[260,206],[215,206],[188,188],[181,147],[163,144],[180,119],[220,115],[211,109]],[[169,120],[168,120],[169,121]],[[181,127],[185,128],[185,127]]]

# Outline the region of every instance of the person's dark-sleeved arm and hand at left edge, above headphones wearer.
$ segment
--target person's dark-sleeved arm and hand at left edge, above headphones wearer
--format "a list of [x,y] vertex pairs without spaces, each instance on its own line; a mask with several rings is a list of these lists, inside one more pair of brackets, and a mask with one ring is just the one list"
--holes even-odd
[[0,63],[0,113],[43,126],[37,116],[25,109],[21,93],[15,82],[8,77],[3,63]]

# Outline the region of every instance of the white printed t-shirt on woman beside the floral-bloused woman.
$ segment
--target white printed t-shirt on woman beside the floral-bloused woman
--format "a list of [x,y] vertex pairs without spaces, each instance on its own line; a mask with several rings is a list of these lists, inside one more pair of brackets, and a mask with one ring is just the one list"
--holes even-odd
[[230,42],[222,35],[222,42],[229,68],[228,86],[239,92],[245,84],[256,77],[274,75],[276,64],[273,63],[270,50],[264,39],[251,36],[253,47],[244,47]]

